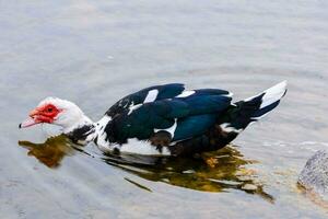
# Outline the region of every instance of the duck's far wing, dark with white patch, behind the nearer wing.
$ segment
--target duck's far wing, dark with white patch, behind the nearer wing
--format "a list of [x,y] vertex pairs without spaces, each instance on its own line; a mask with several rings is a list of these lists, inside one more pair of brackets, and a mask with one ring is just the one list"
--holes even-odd
[[138,104],[150,103],[165,99],[173,99],[181,94],[184,90],[185,85],[181,83],[169,83],[142,89],[136,93],[131,93],[119,100],[106,112],[106,115],[114,117]]

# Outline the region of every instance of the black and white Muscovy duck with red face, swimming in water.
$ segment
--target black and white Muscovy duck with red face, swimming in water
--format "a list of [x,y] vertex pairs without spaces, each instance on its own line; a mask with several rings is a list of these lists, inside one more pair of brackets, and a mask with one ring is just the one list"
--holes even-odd
[[221,89],[153,85],[120,99],[97,122],[73,102],[50,96],[40,101],[19,127],[57,125],[74,143],[94,142],[104,153],[189,155],[229,145],[279,105],[286,84],[282,81],[237,102]]

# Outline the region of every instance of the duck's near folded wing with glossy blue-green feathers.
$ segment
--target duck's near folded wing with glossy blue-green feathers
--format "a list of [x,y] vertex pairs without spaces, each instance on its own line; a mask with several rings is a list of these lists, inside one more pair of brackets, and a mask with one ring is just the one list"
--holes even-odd
[[139,104],[116,116],[105,131],[109,141],[120,143],[129,138],[150,139],[163,131],[169,134],[171,142],[189,139],[207,131],[231,105],[232,97],[224,93],[198,90],[184,97]]

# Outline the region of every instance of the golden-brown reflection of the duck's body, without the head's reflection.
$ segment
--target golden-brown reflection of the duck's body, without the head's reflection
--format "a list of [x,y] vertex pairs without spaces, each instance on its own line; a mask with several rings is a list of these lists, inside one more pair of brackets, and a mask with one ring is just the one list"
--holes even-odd
[[[255,161],[243,158],[243,154],[233,146],[194,158],[107,154],[103,160],[110,165],[154,182],[203,192],[238,189],[273,201],[273,197],[265,193],[262,185],[254,180],[255,171],[246,168],[246,164]],[[140,184],[138,186],[140,187]]]

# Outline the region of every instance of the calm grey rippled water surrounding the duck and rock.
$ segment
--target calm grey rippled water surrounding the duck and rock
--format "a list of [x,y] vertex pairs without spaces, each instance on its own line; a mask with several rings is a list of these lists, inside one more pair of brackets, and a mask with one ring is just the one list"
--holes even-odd
[[[326,218],[296,180],[328,146],[327,10],[309,0],[1,1],[0,217]],[[105,157],[46,141],[40,126],[17,129],[48,95],[96,120],[148,85],[241,100],[282,80],[289,92],[274,112],[194,159]]]

